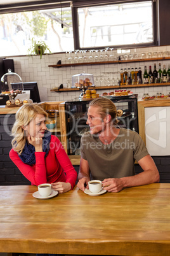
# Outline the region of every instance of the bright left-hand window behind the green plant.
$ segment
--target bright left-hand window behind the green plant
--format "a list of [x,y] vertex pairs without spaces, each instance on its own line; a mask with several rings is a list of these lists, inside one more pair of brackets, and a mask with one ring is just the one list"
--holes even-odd
[[[24,11],[0,15],[0,56],[25,55],[32,38],[45,41],[51,52],[74,50],[72,11],[61,9]],[[68,49],[69,46],[69,49]]]

